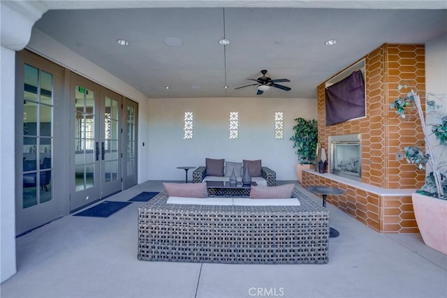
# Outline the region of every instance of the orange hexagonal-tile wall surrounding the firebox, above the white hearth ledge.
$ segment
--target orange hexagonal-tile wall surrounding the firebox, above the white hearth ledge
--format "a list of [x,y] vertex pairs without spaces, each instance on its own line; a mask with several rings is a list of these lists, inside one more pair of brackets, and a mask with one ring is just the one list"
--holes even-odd
[[[317,88],[318,140],[328,150],[331,135],[362,135],[362,182],[381,188],[419,188],[425,172],[406,161],[396,161],[405,146],[424,140],[420,121],[409,116],[402,122],[390,103],[403,94],[399,84],[418,91],[425,103],[424,45],[384,44],[365,56],[367,115],[365,118],[326,126],[325,83]],[[407,89],[409,91],[409,89]],[[423,143],[419,143],[423,147]]]

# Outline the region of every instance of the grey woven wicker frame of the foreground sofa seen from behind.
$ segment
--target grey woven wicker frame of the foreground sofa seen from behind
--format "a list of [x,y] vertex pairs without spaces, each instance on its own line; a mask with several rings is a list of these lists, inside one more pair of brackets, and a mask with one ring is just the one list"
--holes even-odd
[[166,204],[138,210],[138,259],[243,264],[327,263],[329,211],[296,188],[301,206]]

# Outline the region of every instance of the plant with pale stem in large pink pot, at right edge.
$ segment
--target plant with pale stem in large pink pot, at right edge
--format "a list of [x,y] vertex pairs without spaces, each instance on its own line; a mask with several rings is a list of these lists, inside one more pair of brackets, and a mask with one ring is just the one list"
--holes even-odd
[[[424,115],[418,94],[411,91],[390,107],[402,118],[406,109],[417,110],[425,136],[425,152],[418,146],[404,148],[406,161],[415,164],[418,170],[426,170],[425,184],[411,195],[414,214],[425,244],[447,255],[447,116],[441,110],[441,101],[441,96],[427,94]],[[439,144],[434,146],[433,141]]]

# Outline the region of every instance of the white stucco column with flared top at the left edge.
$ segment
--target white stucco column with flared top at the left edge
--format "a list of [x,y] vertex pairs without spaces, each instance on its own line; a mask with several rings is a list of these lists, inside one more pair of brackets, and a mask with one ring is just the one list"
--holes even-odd
[[22,50],[34,22],[45,8],[40,3],[0,1],[0,282],[17,271],[15,262],[15,51]]

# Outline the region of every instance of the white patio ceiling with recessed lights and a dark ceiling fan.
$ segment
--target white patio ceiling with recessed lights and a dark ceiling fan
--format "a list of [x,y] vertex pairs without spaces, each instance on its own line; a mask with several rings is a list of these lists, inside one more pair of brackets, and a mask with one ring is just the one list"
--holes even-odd
[[[235,88],[267,69],[272,79],[291,80],[279,84],[292,90],[271,88],[261,97],[315,98],[318,84],[383,43],[425,43],[446,33],[447,10],[50,10],[35,26],[149,97],[254,97],[256,86]],[[224,35],[226,47],[218,43]],[[165,45],[168,37],[183,45]],[[332,38],[337,44],[326,46]]]

